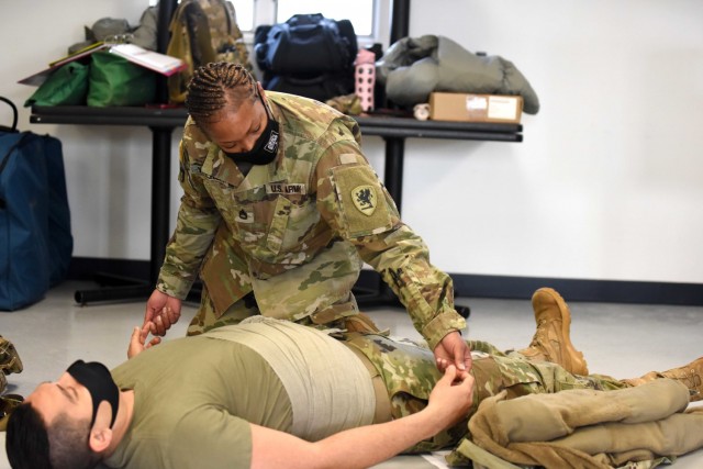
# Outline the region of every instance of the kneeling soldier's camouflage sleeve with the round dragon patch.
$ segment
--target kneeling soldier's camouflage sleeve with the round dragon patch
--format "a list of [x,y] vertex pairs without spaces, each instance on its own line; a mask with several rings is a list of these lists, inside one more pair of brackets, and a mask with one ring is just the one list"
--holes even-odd
[[331,145],[317,168],[317,204],[335,233],[354,244],[406,308],[434,347],[466,321],[454,309],[451,279],[429,263],[426,245],[400,220],[395,203],[353,141]]

